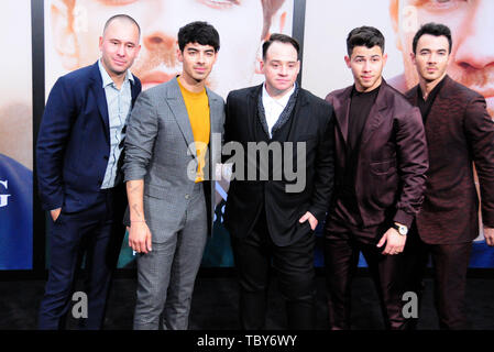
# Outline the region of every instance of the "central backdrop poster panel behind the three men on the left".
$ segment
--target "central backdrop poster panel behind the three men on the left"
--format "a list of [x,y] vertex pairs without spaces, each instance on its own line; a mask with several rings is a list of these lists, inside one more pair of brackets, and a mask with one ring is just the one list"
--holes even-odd
[[[56,79],[73,69],[95,63],[100,55],[98,40],[107,19],[127,13],[141,26],[141,53],[131,72],[143,89],[179,74],[176,35],[191,21],[207,21],[220,34],[218,61],[208,86],[227,98],[232,89],[262,82],[259,73],[261,45],[268,32],[292,34],[293,1],[284,0],[50,0],[45,1],[45,75],[47,98]],[[215,231],[209,239],[205,266],[232,266],[230,237],[222,226],[228,184],[217,184]],[[48,248],[48,241],[46,242]],[[47,252],[47,260],[50,253]],[[119,267],[134,264],[128,237],[122,243]]]

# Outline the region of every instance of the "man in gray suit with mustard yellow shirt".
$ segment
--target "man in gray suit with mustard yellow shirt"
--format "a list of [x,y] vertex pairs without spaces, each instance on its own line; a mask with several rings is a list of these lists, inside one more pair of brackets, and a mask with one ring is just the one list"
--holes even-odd
[[[183,73],[140,95],[125,140],[129,245],[138,254],[134,329],[187,329],[194,282],[212,230],[223,99],[206,88],[218,32],[178,32]],[[219,140],[221,141],[221,140]],[[218,144],[218,145],[217,145]],[[218,147],[217,147],[218,146]]]

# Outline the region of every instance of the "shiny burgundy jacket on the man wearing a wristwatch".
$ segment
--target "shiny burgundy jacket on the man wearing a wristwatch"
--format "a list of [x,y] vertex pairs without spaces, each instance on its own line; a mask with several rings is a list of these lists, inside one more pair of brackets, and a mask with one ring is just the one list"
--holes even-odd
[[[326,100],[336,114],[336,186],[347,163],[352,86],[330,92]],[[396,221],[411,226],[422,202],[428,167],[424,124],[418,108],[384,79],[361,135],[355,194],[365,227]],[[333,211],[334,201],[329,211]]]

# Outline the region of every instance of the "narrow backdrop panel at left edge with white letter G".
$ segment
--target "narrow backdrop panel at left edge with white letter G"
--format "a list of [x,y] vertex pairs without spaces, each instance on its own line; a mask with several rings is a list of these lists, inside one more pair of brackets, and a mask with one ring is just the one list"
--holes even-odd
[[0,33],[0,270],[33,258],[31,3],[3,1]]

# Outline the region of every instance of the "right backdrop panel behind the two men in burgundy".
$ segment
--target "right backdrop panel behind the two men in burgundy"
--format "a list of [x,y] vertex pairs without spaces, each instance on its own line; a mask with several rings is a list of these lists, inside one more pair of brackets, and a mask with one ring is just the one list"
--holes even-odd
[[[372,3],[372,6],[370,6]],[[365,11],[363,11],[365,9]],[[388,58],[383,76],[402,92],[418,84],[410,64],[411,40],[427,22],[451,29],[453,46],[448,74],[482,94],[494,117],[494,1],[491,0],[351,0],[307,1],[303,86],[325,98],[353,82],[344,63],[348,33],[360,25],[380,29]],[[481,222],[482,223],[482,222]],[[470,266],[494,267],[494,249],[485,244],[482,228]]]

